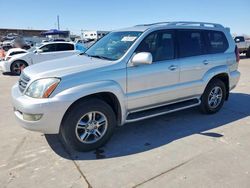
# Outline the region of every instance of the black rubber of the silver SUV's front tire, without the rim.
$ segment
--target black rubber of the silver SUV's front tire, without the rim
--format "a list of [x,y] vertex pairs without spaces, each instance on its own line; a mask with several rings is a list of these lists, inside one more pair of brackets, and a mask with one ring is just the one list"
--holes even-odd
[[[78,140],[75,134],[75,128],[79,119],[90,111],[103,113],[107,118],[108,127],[105,135],[100,140],[95,143],[86,144]],[[90,151],[103,146],[112,136],[115,127],[116,118],[112,108],[100,99],[90,99],[77,104],[66,114],[66,118],[64,118],[60,127],[60,135],[64,142],[73,149],[77,151]]]

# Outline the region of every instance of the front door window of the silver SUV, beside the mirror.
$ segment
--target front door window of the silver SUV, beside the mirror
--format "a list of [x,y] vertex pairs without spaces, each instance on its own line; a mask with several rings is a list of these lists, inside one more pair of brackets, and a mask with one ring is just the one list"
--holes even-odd
[[136,53],[150,52],[153,62],[174,58],[174,34],[172,31],[159,31],[149,34],[138,46]]

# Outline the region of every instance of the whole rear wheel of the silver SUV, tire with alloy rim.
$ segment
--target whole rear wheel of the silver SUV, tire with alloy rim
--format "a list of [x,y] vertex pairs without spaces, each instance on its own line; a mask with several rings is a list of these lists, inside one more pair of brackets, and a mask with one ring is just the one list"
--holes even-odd
[[214,114],[222,108],[225,99],[226,86],[224,82],[219,79],[211,80],[201,96],[200,111],[204,114]]

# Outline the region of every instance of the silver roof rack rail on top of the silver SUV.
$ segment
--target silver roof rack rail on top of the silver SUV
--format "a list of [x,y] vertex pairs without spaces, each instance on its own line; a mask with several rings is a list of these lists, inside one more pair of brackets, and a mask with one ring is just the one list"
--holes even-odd
[[136,26],[152,26],[152,25],[169,25],[169,26],[200,26],[200,27],[216,27],[224,28],[221,24],[208,23],[208,22],[187,22],[187,21],[178,21],[178,22],[156,22],[151,24],[140,24]]

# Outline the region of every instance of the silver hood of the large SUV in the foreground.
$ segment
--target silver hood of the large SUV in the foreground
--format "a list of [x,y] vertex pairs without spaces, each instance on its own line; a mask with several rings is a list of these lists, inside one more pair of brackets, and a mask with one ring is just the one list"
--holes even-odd
[[73,55],[32,65],[25,68],[23,72],[31,78],[63,77],[73,73],[105,67],[111,63],[112,61],[91,58],[85,55]]

